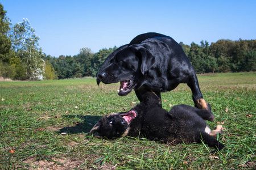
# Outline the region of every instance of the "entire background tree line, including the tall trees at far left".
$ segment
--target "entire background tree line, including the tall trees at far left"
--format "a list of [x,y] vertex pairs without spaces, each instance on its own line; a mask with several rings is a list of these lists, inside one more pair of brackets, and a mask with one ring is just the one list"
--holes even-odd
[[[52,57],[43,53],[39,37],[27,19],[12,24],[0,3],[0,76],[15,80],[42,80],[96,76],[105,58],[117,49],[102,48],[93,53],[81,48],[75,56]],[[128,43],[128,42],[127,42]],[[190,45],[179,43],[200,73],[256,70],[256,40],[218,40]]]

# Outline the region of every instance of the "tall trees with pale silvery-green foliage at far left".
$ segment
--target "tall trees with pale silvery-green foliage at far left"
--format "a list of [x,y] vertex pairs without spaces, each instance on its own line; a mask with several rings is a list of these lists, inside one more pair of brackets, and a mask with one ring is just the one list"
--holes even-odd
[[18,80],[43,79],[44,54],[28,19],[12,25],[0,4],[0,76]]

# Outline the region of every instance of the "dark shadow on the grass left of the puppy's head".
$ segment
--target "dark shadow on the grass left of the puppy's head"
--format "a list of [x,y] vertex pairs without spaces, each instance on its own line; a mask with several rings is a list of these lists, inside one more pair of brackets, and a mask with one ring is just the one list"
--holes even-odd
[[58,133],[89,133],[93,126],[100,120],[101,116],[90,116],[90,115],[63,115],[65,118],[81,118],[82,122],[74,122],[74,126],[64,127],[58,131]]

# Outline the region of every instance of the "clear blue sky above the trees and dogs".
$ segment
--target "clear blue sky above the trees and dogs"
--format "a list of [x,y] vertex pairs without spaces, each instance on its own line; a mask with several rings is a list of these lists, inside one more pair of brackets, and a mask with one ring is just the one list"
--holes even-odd
[[47,55],[74,56],[88,47],[128,44],[158,32],[190,45],[256,39],[256,1],[14,1],[0,2],[11,23],[30,20]]

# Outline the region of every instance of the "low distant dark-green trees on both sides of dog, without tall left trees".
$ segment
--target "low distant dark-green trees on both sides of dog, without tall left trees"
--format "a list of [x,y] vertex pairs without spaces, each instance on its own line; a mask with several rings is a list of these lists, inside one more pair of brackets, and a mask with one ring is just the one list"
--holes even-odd
[[[229,71],[255,71],[256,67],[256,40],[219,40],[211,45],[207,41],[201,41],[201,45],[192,42],[184,45],[180,42],[190,62],[200,73],[226,73]],[[241,48],[242,46],[242,48]],[[59,79],[76,78],[83,76],[96,76],[105,58],[115,49],[101,49],[92,53],[89,48],[80,49],[77,56],[50,57]]]

